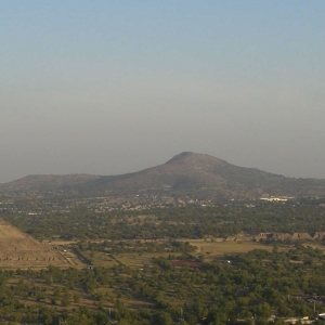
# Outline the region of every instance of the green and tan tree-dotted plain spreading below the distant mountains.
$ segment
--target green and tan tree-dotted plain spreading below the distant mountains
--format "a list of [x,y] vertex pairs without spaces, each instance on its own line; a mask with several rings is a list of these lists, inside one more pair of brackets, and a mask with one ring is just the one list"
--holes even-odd
[[16,259],[1,261],[14,263],[0,270],[0,323],[322,324],[325,198],[30,195],[2,198],[0,216],[26,232],[2,222]]

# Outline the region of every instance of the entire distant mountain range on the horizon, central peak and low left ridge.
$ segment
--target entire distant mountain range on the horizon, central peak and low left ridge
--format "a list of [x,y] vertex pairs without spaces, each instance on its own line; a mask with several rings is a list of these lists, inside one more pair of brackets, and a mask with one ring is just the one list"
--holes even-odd
[[78,196],[165,193],[196,198],[323,196],[325,180],[294,179],[185,152],[166,164],[121,176],[29,176],[0,184],[1,193],[62,192]]

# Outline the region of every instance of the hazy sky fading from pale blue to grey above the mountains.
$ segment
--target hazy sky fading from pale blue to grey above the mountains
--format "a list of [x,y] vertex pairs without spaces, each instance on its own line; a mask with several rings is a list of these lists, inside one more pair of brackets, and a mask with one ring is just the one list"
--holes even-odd
[[0,0],[0,182],[184,151],[325,178],[324,0]]

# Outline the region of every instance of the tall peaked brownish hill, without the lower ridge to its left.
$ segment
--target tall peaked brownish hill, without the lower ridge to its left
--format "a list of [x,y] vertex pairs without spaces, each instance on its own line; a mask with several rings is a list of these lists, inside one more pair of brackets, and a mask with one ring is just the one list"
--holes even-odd
[[325,195],[325,181],[292,179],[231,165],[209,155],[182,153],[139,172],[101,177],[80,187],[93,193],[162,192],[203,198]]

